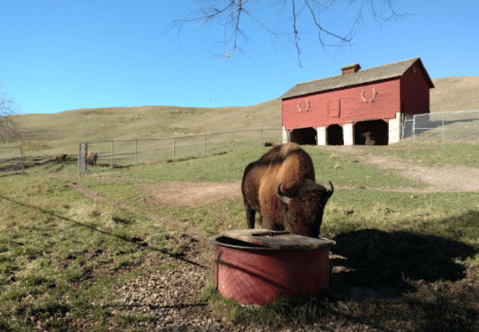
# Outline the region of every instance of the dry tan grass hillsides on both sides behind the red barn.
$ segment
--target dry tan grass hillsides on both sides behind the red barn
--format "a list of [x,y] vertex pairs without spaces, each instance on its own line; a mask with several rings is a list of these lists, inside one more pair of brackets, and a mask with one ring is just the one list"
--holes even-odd
[[[434,79],[431,112],[479,110],[479,77]],[[281,101],[244,107],[177,106],[78,109],[16,117],[27,154],[76,153],[79,141],[166,138],[281,127]],[[12,144],[9,144],[12,145]]]

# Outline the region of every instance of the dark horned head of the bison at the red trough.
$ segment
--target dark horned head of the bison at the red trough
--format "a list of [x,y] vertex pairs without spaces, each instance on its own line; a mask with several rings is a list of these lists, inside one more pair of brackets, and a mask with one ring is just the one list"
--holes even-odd
[[284,228],[293,234],[318,237],[323,222],[324,207],[334,192],[311,180],[299,182],[281,192],[281,182],[276,189],[284,220]]

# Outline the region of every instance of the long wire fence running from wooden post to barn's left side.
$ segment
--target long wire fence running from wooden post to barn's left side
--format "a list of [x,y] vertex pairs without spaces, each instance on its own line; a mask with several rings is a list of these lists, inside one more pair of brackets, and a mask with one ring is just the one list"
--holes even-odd
[[280,144],[282,129],[258,129],[162,139],[112,140],[78,143],[78,176],[88,167],[87,153],[94,152],[96,166],[121,167],[159,161],[178,161],[222,154],[265,142]]

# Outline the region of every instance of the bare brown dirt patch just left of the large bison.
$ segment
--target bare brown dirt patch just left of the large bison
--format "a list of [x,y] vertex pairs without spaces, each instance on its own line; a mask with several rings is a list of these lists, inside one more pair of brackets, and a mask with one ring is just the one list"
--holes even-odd
[[243,197],[241,181],[184,182],[162,181],[142,185],[147,204],[195,207]]

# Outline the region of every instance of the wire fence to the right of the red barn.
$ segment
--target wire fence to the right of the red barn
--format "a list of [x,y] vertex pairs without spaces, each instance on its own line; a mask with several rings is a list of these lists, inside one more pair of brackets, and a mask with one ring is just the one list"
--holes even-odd
[[402,139],[479,141],[479,111],[426,113],[405,117]]

